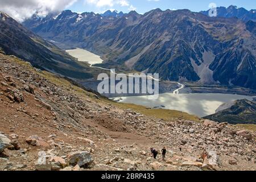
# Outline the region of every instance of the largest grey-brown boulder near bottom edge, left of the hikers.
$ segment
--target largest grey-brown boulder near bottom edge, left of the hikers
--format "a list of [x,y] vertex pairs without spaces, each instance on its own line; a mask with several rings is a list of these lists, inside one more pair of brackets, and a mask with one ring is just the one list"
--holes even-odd
[[88,151],[72,152],[68,155],[68,163],[72,166],[89,167],[93,163],[93,156]]

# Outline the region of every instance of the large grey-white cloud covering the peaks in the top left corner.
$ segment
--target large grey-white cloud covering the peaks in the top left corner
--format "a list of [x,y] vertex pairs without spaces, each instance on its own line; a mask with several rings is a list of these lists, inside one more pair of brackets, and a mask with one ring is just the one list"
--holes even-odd
[[77,0],[0,0],[0,11],[22,22],[33,14],[45,16],[49,12],[62,11]]

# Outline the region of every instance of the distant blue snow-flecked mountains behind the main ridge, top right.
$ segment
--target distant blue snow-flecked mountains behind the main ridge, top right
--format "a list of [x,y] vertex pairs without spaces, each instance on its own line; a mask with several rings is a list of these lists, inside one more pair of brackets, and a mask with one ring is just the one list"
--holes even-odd
[[[209,15],[209,11],[201,11],[205,15]],[[248,20],[253,20],[256,22],[256,10],[247,11],[243,7],[237,8],[237,6],[229,6],[226,7],[217,7],[217,16],[224,17],[224,18],[232,18],[236,17],[242,19],[243,21],[247,22]]]

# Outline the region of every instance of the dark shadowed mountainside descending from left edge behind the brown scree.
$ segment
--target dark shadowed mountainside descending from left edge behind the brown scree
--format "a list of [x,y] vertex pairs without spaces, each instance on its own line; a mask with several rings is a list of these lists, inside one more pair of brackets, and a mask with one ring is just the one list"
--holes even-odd
[[0,47],[7,55],[15,55],[30,61],[32,65],[40,69],[73,78],[92,77],[86,73],[88,66],[80,65],[75,58],[28,31],[10,16],[1,12]]

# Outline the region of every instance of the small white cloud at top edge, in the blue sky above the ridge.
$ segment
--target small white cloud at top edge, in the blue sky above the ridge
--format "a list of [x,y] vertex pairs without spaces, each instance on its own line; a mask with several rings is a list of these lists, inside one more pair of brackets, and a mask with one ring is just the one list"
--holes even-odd
[[85,0],[89,5],[96,5],[97,7],[113,7],[114,5],[129,6],[129,1],[127,0]]

